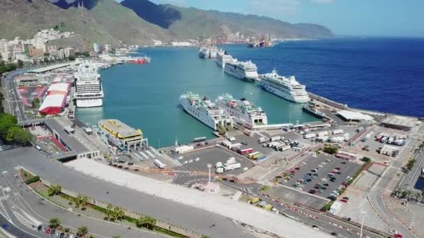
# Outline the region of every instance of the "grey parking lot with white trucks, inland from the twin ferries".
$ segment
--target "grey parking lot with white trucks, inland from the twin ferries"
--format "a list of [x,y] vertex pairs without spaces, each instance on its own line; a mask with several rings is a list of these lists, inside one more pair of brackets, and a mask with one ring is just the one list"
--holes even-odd
[[[180,159],[179,162],[182,164],[183,168],[188,170],[196,171],[208,171],[207,164],[212,164],[212,168],[215,170],[215,164],[217,162],[225,163],[227,159],[234,157],[237,163],[241,164],[241,168],[236,168],[234,170],[225,171],[224,175],[238,175],[241,170],[245,167],[252,168],[252,161],[248,158],[236,154],[227,148],[222,148],[220,146],[214,146],[213,148],[205,148],[203,150],[198,150],[195,152],[188,152],[180,155],[183,159]],[[197,158],[199,158],[197,160]],[[187,161],[187,163],[185,163]],[[190,162],[191,161],[191,162]]]

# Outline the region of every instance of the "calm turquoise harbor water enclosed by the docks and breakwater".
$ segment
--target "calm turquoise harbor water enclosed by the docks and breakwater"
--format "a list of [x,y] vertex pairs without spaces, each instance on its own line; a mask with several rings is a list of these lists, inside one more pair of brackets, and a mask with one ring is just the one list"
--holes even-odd
[[[215,100],[223,93],[261,106],[268,123],[311,122],[318,118],[302,111],[302,105],[267,93],[259,84],[229,77],[214,60],[197,56],[197,48],[144,48],[152,61],[145,65],[123,64],[100,72],[105,98],[103,107],[78,109],[77,118],[96,125],[103,118],[117,118],[142,129],[154,147],[172,145],[175,138],[213,138],[212,129],[185,113],[179,96],[187,90]],[[292,106],[290,106],[292,105]]]

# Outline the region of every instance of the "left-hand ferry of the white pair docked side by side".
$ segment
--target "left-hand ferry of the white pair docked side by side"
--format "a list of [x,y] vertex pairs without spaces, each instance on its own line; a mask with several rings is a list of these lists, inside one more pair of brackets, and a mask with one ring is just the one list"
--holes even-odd
[[225,129],[227,126],[233,126],[232,118],[206,97],[187,92],[180,96],[180,103],[191,116],[215,131],[218,130],[218,127]]

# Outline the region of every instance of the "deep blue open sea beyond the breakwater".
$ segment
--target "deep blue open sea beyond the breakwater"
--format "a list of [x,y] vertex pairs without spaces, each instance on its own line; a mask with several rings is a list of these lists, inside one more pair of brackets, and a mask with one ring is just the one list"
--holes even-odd
[[307,90],[348,106],[424,116],[424,38],[334,38],[272,48],[225,47],[259,73],[295,75]]

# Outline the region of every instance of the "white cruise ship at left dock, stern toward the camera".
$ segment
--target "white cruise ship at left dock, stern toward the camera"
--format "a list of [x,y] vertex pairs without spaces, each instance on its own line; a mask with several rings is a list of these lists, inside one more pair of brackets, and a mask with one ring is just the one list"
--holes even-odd
[[75,104],[77,107],[103,106],[103,87],[97,68],[86,61],[75,73]]

